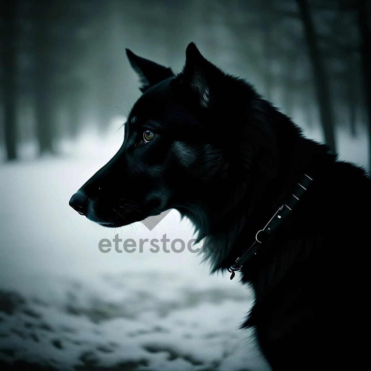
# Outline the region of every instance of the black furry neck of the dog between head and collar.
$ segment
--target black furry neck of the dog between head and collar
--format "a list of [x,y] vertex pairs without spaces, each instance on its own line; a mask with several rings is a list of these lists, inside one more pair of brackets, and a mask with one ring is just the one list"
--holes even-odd
[[[229,204],[223,204],[223,200],[216,203],[206,198],[206,202],[194,204],[192,211],[186,213],[196,226],[199,237],[204,238],[203,257],[211,263],[211,272],[233,264],[238,254],[254,241],[256,232],[266,225],[293,191],[303,174],[316,173],[335,161],[327,147],[304,138],[286,116],[274,108],[272,110],[275,118],[281,121],[276,123],[280,162],[275,174],[264,178],[260,171],[254,173],[254,169],[250,169],[243,197],[233,209],[228,209]],[[230,189],[220,190],[220,194],[233,197],[236,184],[229,186]],[[240,195],[241,189],[237,192]]]

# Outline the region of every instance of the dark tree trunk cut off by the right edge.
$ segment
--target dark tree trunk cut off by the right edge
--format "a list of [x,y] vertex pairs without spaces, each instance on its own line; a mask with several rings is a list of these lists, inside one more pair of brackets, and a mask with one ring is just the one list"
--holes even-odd
[[363,91],[368,126],[368,171],[371,174],[371,31],[370,4],[367,0],[358,0],[358,27],[361,36],[361,63],[363,72]]

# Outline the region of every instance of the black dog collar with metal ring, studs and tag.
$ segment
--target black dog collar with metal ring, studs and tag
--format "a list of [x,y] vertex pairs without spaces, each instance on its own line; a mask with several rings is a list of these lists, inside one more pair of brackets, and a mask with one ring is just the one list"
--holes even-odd
[[312,178],[304,174],[302,180],[300,181],[300,183],[298,183],[298,186],[296,187],[293,194],[288,198],[287,202],[282,204],[281,207],[269,220],[267,225],[256,233],[255,242],[248,249],[245,249],[242,255],[240,257],[237,257],[236,262],[227,269],[228,272],[232,273],[230,279],[233,279],[233,277],[236,275],[236,272],[241,270],[242,265],[246,263],[247,260],[250,259],[250,257],[256,254],[256,251],[260,246],[259,244],[266,242],[269,237],[272,236],[273,232],[282,223],[282,221],[286,219],[295,204],[303,196],[306,188],[308,188],[308,185],[309,183],[311,183],[311,181]]

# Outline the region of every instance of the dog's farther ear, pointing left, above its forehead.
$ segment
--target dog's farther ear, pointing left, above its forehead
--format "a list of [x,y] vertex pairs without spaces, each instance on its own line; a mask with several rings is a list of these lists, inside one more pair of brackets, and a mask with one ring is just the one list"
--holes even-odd
[[138,73],[140,82],[142,84],[141,90],[144,93],[151,86],[174,77],[174,73],[170,68],[161,66],[151,60],[141,58],[135,55],[131,50],[125,49],[130,65]]

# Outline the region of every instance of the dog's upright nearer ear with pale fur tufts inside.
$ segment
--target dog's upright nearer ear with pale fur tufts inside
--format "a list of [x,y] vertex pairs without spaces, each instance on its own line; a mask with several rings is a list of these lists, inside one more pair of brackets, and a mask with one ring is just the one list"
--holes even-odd
[[188,44],[185,50],[184,79],[196,93],[199,104],[205,108],[209,108],[211,103],[210,88],[205,77],[205,72],[210,66],[215,68],[201,55],[196,44]]

